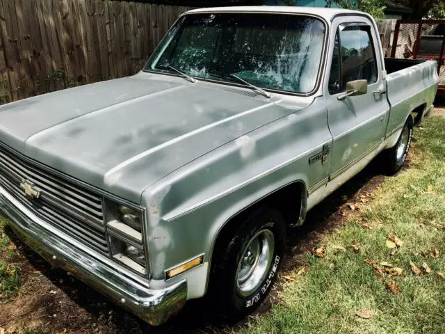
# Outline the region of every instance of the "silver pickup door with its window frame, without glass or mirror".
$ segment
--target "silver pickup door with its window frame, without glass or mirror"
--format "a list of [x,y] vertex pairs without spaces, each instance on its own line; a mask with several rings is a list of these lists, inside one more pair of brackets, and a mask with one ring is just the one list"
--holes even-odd
[[[357,22],[344,22],[345,19],[334,20],[336,33],[331,36],[334,47],[324,88],[333,137],[330,180],[378,150],[389,116],[387,97],[382,93],[385,83],[378,36],[365,17],[357,17]],[[367,93],[339,100],[346,93],[346,84],[355,80],[367,81]]]

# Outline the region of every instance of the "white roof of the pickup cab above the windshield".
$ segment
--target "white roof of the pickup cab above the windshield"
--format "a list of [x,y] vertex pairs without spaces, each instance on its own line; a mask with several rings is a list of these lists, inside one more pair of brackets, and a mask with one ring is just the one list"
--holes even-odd
[[250,12],[250,13],[291,13],[291,14],[309,14],[318,15],[326,19],[328,22],[335,15],[349,14],[357,15],[365,14],[358,10],[348,10],[341,8],[323,8],[323,7],[298,7],[298,6],[236,6],[236,7],[215,7],[215,8],[199,8],[189,10],[189,13],[205,13],[205,12]]

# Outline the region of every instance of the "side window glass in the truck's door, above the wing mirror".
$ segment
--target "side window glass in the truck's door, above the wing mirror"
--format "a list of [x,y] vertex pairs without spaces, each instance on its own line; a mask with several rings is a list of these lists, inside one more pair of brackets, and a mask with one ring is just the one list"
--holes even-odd
[[[365,79],[368,84],[374,84],[378,75],[371,27],[346,26],[339,29],[335,39],[329,92],[335,94],[346,90],[348,81]],[[338,86],[337,77],[340,77]]]

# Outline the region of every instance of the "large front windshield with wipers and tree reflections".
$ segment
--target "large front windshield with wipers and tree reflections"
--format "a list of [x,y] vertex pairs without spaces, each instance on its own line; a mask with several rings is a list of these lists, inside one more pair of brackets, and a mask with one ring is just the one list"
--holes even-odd
[[321,20],[297,15],[185,15],[145,70],[250,84],[292,93],[314,90],[323,51]]

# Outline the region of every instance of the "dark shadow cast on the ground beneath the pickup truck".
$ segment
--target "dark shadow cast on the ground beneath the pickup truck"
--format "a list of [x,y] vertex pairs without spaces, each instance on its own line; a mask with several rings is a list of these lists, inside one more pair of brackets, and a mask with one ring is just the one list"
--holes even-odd
[[[330,234],[344,223],[344,217],[338,213],[342,205],[352,200],[360,189],[365,188],[366,191],[372,191],[380,185],[384,177],[379,162],[380,157],[374,159],[362,172],[325,198],[307,214],[306,223],[301,228],[289,228],[288,253],[282,269],[284,273],[298,265],[305,264],[301,255],[316,246],[325,234]],[[6,234],[17,247],[22,245],[10,228],[6,229]],[[53,269],[49,263],[42,260],[27,246],[22,247],[22,253],[30,264],[28,270],[40,271],[52,284],[62,289],[79,308],[87,310],[92,317],[91,322],[97,323],[99,331],[102,333],[139,333],[135,317],[109,303],[108,299],[81,281],[67,276],[65,271]],[[267,312],[270,306],[270,299],[266,299],[257,313]],[[146,328],[145,333],[227,333],[233,330],[234,326],[243,326],[244,321],[238,324],[229,324],[213,312],[209,312],[211,309],[209,299],[188,301],[184,310],[172,318],[168,324],[156,328]],[[112,327],[114,329],[108,324],[103,324],[104,328],[101,328],[101,317],[104,313],[108,314],[109,310],[113,310]],[[76,319],[75,314],[73,319]],[[68,319],[66,323],[63,323],[63,326],[69,331],[79,328],[79,324],[70,324]],[[74,328],[72,328],[73,326]]]

